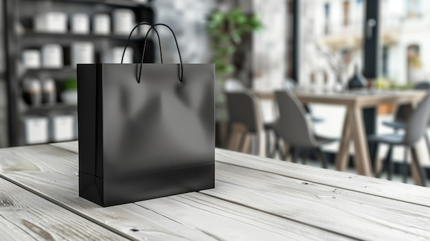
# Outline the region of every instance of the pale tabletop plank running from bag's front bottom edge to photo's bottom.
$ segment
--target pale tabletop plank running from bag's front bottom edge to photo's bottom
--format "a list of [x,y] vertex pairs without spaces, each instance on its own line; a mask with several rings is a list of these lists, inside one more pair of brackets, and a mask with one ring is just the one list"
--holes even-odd
[[298,222],[200,193],[137,203],[217,240],[350,240]]

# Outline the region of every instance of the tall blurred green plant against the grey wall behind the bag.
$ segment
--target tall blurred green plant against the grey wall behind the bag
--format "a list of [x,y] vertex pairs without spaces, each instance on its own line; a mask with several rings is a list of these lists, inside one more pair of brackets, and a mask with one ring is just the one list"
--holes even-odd
[[215,11],[207,21],[207,32],[212,38],[213,57],[215,63],[217,91],[216,91],[216,118],[225,120],[225,97],[223,83],[236,71],[232,58],[236,49],[242,43],[245,34],[260,30],[260,19],[256,14],[245,14],[240,8],[228,12]]

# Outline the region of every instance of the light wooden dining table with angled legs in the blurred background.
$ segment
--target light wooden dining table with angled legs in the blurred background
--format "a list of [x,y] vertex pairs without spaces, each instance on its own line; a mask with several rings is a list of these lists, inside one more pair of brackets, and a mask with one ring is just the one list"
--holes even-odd
[[[343,122],[341,144],[337,152],[335,164],[337,170],[345,171],[348,167],[350,143],[354,143],[354,165],[361,175],[372,176],[372,165],[367,143],[363,108],[377,107],[380,104],[411,104],[416,106],[427,94],[427,91],[309,91],[297,89],[297,98],[304,104],[335,104],[346,106]],[[273,92],[256,92],[263,99],[274,100]],[[413,167],[414,174],[418,173]],[[414,175],[417,176],[417,175]],[[416,178],[416,183],[420,180]]]

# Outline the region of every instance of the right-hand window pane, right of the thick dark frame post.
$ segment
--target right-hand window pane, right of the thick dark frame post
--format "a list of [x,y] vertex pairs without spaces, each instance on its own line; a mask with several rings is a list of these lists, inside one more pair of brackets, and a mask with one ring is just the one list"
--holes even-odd
[[382,76],[398,86],[430,80],[430,1],[381,3]]

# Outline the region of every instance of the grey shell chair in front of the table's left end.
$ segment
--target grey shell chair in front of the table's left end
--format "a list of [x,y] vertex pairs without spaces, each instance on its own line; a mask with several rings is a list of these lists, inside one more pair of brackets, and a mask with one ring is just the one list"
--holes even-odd
[[[279,107],[279,119],[276,124],[280,138],[289,148],[292,148],[291,157],[297,161],[299,150],[313,149],[323,168],[328,168],[326,156],[321,146],[337,139],[315,135],[313,122],[301,102],[291,91],[276,91],[275,97]],[[285,157],[286,158],[286,157]]]

